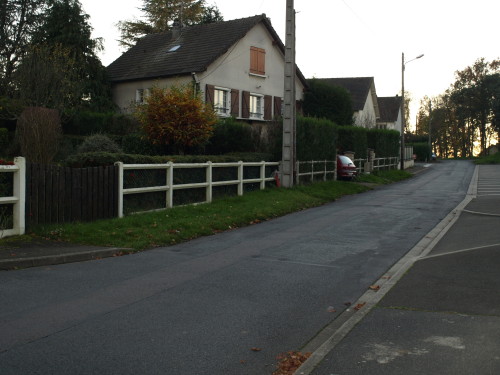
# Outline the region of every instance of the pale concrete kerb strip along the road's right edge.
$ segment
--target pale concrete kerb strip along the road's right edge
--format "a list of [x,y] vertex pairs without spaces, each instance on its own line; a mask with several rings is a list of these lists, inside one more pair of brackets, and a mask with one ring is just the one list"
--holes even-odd
[[345,310],[332,323],[325,327],[304,348],[303,352],[312,352],[311,356],[297,369],[298,375],[309,375],[326,355],[380,302],[396,285],[408,269],[419,259],[425,257],[437,245],[441,238],[455,224],[469,202],[477,194],[478,167],[476,166],[469,189],[464,200],[458,204],[441,222],[425,235],[408,253],[396,262],[374,285],[378,290],[367,290],[353,308]]

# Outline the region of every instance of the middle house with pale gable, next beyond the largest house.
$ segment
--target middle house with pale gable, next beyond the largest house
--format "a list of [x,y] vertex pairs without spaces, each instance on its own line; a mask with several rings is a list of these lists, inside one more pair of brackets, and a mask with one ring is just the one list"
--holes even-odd
[[354,125],[364,128],[376,126],[380,111],[373,77],[319,78],[318,81],[343,87],[351,94]]

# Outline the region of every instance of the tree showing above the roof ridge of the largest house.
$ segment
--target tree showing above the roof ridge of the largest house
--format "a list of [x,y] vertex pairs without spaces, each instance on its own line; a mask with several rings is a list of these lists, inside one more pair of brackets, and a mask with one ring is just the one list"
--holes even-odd
[[183,25],[223,21],[216,5],[205,0],[142,0],[144,19],[120,21],[120,45],[132,47],[144,35],[169,30],[175,20]]

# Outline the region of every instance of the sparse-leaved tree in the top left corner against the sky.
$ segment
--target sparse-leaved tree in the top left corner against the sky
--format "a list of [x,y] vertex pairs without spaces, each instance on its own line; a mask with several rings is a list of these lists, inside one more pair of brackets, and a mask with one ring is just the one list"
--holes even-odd
[[11,94],[12,74],[42,22],[47,2],[0,0],[0,96]]

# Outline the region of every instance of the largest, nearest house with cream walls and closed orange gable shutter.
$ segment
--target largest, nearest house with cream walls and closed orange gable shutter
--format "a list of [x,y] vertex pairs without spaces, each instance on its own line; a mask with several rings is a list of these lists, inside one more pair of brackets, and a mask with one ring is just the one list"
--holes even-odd
[[[107,68],[123,112],[154,85],[193,84],[221,117],[251,121],[281,115],[285,47],[265,14],[150,34]],[[296,100],[307,86],[296,69]]]

